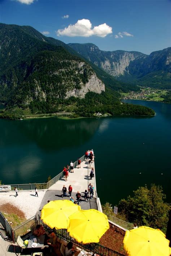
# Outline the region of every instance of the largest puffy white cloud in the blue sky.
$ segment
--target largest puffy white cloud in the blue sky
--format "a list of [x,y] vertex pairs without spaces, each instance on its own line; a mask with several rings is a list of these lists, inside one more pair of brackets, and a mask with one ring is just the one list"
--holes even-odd
[[66,35],[68,37],[90,37],[96,35],[98,37],[106,37],[112,33],[112,28],[106,23],[95,26],[92,29],[92,24],[87,19],[78,20],[74,25],[70,24],[65,29],[58,29],[58,36]]

